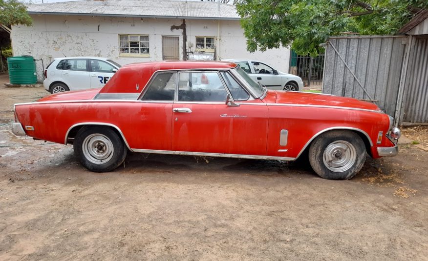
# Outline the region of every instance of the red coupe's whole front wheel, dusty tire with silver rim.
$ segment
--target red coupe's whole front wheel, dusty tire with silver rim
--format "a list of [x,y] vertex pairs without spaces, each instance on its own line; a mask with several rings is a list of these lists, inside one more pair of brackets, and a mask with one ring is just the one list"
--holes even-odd
[[349,180],[363,167],[364,141],[352,131],[330,131],[318,136],[309,148],[312,169],[327,180]]

